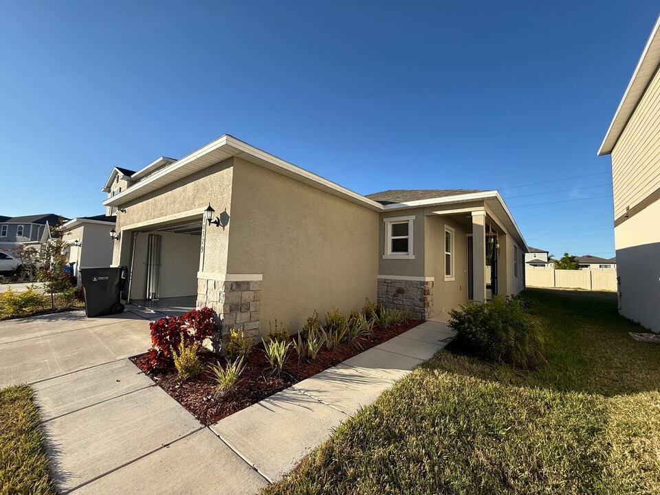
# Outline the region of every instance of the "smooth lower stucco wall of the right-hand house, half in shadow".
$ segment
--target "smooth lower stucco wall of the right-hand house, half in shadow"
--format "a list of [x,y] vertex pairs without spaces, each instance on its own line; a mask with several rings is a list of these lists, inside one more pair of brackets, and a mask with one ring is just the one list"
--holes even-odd
[[621,314],[660,332],[660,201],[614,230]]

